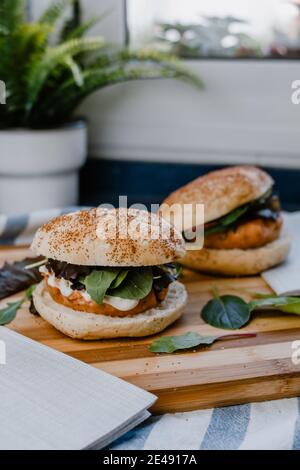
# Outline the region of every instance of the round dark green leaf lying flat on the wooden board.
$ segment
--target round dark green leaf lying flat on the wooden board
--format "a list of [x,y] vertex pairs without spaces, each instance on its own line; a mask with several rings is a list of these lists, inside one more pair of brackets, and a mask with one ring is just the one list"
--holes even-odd
[[253,308],[243,299],[223,295],[210,300],[202,310],[203,320],[216,328],[237,330],[250,320]]

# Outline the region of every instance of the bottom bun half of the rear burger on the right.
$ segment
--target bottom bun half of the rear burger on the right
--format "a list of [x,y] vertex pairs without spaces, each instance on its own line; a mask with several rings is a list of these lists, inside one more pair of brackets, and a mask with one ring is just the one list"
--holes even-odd
[[282,263],[289,254],[290,245],[290,237],[285,233],[267,245],[249,250],[203,248],[189,251],[180,263],[206,273],[250,276]]

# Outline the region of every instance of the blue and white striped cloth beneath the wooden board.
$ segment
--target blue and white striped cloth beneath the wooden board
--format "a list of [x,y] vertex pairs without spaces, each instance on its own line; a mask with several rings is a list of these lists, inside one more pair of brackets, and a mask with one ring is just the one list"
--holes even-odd
[[[78,208],[0,215],[0,245],[26,245],[50,218]],[[300,398],[152,417],[116,441],[115,450],[300,450]]]

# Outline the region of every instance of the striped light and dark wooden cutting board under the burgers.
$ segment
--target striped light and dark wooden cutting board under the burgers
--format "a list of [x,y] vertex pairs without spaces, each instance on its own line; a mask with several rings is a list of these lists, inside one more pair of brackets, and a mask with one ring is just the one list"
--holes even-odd
[[[1,250],[0,263],[25,254],[24,250]],[[158,336],[187,331],[228,334],[200,318],[213,286],[221,294],[247,299],[251,297],[248,292],[270,292],[260,277],[220,279],[185,271],[184,283],[189,292],[185,313]],[[256,313],[240,331],[256,333],[255,338],[230,339],[206,349],[166,355],[149,352],[155,337],[93,342],[70,339],[31,315],[28,307],[9,328],[153,392],[158,396],[152,410],[156,413],[300,396],[300,365],[292,362],[292,342],[300,340],[300,317],[296,315]]]

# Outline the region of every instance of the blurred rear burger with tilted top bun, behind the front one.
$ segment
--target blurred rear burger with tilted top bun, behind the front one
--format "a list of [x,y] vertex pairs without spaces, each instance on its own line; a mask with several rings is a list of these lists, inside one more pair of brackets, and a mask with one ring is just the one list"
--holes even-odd
[[199,271],[244,276],[284,261],[290,240],[273,187],[266,172],[238,166],[208,173],[172,193],[161,207],[166,219],[173,204],[192,204],[193,211],[196,204],[204,205],[204,247],[188,251],[180,262]]

